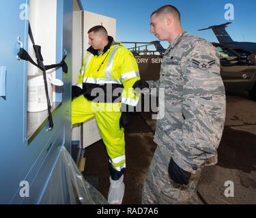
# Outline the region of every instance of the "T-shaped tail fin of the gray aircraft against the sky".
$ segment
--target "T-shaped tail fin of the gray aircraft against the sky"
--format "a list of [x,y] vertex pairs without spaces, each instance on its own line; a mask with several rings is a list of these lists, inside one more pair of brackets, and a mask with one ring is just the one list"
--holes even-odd
[[[227,31],[226,31],[226,27],[229,24],[231,24],[231,22],[225,22],[221,25],[210,26],[205,29],[212,29],[212,31],[214,32],[215,36],[218,39],[218,42],[220,42],[221,44],[229,44],[229,43],[233,42],[229,33],[227,33]],[[205,29],[199,29],[198,31],[202,31]]]

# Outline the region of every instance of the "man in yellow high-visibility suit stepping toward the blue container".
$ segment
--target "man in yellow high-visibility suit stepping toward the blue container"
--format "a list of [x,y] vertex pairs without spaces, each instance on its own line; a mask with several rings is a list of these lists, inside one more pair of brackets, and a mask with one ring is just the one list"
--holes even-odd
[[95,116],[109,155],[110,182],[108,201],[122,204],[126,168],[124,127],[130,114],[121,111],[136,106],[139,96],[132,86],[140,80],[132,53],[108,36],[106,29],[89,29],[89,45],[79,80],[72,87],[72,125]]

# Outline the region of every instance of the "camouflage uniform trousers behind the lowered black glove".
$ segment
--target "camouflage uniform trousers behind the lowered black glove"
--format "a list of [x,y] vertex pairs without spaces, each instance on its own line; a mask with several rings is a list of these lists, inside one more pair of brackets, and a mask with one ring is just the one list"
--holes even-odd
[[201,170],[191,174],[188,185],[174,183],[168,173],[170,152],[158,145],[144,181],[142,204],[201,204],[197,184]]

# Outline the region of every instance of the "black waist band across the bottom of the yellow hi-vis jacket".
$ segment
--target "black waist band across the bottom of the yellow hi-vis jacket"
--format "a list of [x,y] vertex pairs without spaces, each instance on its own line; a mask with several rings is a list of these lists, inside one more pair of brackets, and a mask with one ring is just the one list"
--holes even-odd
[[122,84],[83,83],[83,95],[91,102],[121,102],[123,90]]

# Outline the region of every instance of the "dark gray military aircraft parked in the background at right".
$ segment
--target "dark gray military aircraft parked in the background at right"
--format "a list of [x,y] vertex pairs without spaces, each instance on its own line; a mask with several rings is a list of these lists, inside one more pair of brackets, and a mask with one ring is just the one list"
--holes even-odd
[[[256,42],[234,42],[232,40],[229,33],[227,33],[226,31],[227,25],[231,23],[232,22],[225,22],[221,25],[210,26],[205,29],[212,29],[218,39],[218,42],[224,44],[225,46],[228,46],[229,48],[241,49],[252,54],[256,54]],[[198,31],[203,31],[205,29],[199,29]]]

